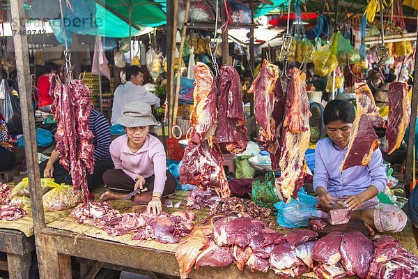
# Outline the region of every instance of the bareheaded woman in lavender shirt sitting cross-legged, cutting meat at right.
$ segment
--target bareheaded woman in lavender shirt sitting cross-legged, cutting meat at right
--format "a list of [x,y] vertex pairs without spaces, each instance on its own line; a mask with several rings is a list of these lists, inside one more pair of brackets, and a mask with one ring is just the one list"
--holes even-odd
[[387,182],[379,149],[373,152],[369,165],[340,173],[355,119],[353,105],[347,100],[332,100],[325,107],[323,119],[328,137],[316,144],[314,172],[317,207],[323,217],[327,217],[332,204],[343,202],[353,210],[351,218],[364,220],[371,234],[374,229],[401,232],[408,220],[405,213],[396,206],[380,204],[376,197]]

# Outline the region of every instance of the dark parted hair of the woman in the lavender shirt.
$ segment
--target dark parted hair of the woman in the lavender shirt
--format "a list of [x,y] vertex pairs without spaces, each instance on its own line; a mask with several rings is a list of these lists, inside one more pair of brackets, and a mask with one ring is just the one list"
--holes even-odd
[[353,123],[355,111],[348,100],[331,100],[324,109],[324,124],[341,120],[343,123]]

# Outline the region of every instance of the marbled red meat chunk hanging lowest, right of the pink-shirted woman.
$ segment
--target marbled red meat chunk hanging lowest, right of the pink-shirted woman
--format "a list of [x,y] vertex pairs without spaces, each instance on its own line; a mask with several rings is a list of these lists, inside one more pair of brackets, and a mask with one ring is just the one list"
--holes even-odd
[[215,187],[219,197],[229,197],[231,190],[222,167],[223,162],[216,145],[210,147],[208,140],[197,144],[190,140],[180,167],[180,182],[196,185],[201,190]]

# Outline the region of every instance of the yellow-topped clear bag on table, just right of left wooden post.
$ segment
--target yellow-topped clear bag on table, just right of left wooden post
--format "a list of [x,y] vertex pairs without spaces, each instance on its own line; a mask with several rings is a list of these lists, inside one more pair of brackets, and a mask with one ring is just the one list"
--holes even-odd
[[75,194],[71,185],[60,185],[52,180],[46,181],[45,184],[52,188],[42,197],[44,209],[47,211],[70,209],[82,202],[82,191],[79,190]]

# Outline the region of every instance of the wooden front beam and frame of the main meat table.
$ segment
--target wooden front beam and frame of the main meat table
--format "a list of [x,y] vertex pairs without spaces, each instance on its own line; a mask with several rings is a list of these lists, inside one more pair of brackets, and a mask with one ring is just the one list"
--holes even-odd
[[[171,276],[180,276],[176,257],[173,252],[158,252],[152,249],[128,246],[112,241],[94,239],[88,236],[70,235],[58,229],[45,228],[41,234],[42,271],[45,278],[71,279],[71,257],[81,257],[97,261],[94,269],[111,267],[135,273],[153,271]],[[105,264],[105,265],[104,265]],[[118,267],[123,267],[119,269]],[[86,276],[84,278],[94,278]],[[279,278],[272,270],[268,273],[239,271],[235,264],[226,267],[203,266],[199,271],[192,271],[189,278]]]

